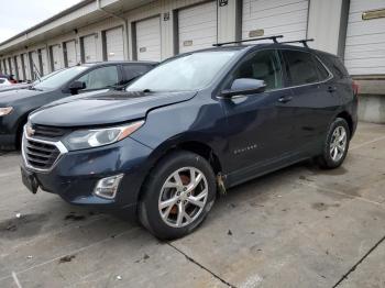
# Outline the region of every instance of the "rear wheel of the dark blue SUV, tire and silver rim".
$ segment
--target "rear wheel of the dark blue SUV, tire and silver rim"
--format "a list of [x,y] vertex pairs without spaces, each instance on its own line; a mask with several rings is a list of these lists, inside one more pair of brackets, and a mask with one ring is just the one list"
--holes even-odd
[[342,165],[349,151],[350,136],[348,122],[337,118],[329,126],[322,154],[317,158],[321,168],[333,169]]

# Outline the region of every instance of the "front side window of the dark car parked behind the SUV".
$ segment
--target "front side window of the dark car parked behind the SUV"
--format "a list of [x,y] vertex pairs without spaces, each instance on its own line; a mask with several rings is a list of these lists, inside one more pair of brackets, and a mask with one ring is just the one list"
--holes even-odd
[[107,66],[94,69],[81,76],[78,81],[86,84],[85,90],[103,89],[119,84],[118,68]]

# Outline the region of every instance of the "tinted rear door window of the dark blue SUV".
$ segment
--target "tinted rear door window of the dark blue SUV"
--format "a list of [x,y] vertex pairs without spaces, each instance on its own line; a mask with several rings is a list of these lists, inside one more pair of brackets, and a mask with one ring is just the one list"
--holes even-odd
[[284,51],[286,70],[290,86],[318,82],[318,71],[310,53],[300,51]]

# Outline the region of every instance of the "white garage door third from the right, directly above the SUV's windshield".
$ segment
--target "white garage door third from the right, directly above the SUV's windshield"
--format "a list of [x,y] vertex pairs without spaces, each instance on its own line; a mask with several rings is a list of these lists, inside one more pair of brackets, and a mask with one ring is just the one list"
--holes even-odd
[[217,43],[217,2],[180,10],[178,29],[179,53],[211,47]]

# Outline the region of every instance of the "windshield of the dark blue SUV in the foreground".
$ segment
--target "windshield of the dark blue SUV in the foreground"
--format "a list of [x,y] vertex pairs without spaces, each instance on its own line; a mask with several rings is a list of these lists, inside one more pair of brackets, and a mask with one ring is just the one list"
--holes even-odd
[[235,54],[234,51],[199,52],[172,59],[139,78],[127,91],[199,90],[209,85]]

